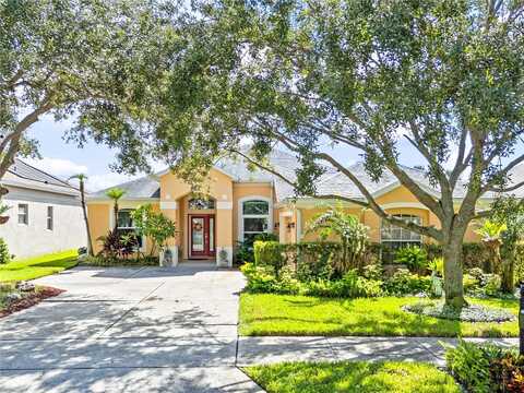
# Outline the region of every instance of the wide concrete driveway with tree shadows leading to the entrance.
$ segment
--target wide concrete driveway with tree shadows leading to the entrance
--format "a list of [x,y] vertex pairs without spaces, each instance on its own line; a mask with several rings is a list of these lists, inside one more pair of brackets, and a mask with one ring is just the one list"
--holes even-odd
[[241,273],[76,267],[67,291],[0,320],[2,392],[255,392],[236,367]]

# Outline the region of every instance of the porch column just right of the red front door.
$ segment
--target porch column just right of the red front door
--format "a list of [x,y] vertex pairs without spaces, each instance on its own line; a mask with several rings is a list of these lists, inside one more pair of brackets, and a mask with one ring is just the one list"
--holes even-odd
[[216,202],[216,265],[233,266],[233,202]]

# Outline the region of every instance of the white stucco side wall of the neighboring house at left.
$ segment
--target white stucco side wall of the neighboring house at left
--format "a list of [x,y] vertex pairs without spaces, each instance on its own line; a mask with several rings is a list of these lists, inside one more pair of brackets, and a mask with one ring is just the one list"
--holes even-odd
[[[10,219],[0,225],[0,237],[16,258],[62,251],[86,245],[80,201],[72,195],[8,187],[2,202],[11,209]],[[19,203],[28,204],[28,225],[19,224]],[[47,229],[47,207],[53,207],[53,229]]]

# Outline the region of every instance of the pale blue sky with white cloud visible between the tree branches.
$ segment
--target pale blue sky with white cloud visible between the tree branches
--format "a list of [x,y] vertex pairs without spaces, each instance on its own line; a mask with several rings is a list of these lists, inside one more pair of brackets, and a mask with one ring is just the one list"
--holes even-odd
[[[46,116],[35,123],[28,132],[28,135],[39,141],[39,152],[41,159],[23,158],[28,164],[47,171],[62,179],[82,172],[87,175],[87,190],[93,192],[100,189],[117,186],[132,178],[144,176],[139,174],[134,177],[112,172],[109,165],[115,162],[115,150],[105,145],[88,142],[83,148],[79,148],[73,143],[66,143],[63,140],[64,131],[71,128],[73,120],[57,122],[52,117]],[[402,151],[401,163],[407,166],[424,165],[422,157],[410,146],[407,141],[402,140],[400,147]],[[359,152],[353,148],[332,148],[326,145],[324,151],[333,154],[341,163],[345,165],[361,160]],[[522,146],[517,153],[524,153]],[[451,166],[451,163],[450,163]],[[164,166],[156,164],[154,170],[162,170]]]

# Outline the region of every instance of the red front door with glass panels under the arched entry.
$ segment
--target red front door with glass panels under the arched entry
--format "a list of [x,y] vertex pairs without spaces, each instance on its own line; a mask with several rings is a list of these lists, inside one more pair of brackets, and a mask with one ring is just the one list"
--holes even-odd
[[215,255],[215,216],[192,214],[189,216],[189,258]]

